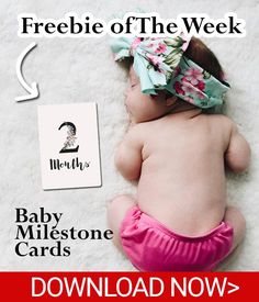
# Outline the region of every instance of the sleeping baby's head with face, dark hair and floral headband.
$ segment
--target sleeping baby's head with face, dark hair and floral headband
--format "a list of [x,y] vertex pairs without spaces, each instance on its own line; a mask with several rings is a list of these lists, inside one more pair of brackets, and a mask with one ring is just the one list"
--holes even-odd
[[[148,43],[143,46],[143,41]],[[181,37],[164,42],[136,38],[130,46],[128,56],[134,57],[134,64],[130,67],[125,105],[135,123],[169,112],[212,108],[222,103],[228,89],[217,58],[199,38],[192,37],[188,43]]]

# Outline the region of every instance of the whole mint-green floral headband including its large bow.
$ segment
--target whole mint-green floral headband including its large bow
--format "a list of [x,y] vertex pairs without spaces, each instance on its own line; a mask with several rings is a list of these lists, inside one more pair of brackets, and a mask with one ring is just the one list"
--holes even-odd
[[173,96],[206,109],[223,103],[229,89],[183,53],[190,40],[177,37],[120,37],[111,42],[115,60],[134,57],[133,68],[142,92],[157,94],[167,90]]

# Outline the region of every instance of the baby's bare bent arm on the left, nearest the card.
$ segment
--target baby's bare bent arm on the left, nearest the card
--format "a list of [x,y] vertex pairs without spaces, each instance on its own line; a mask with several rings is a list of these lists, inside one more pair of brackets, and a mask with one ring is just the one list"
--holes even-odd
[[133,126],[128,130],[115,155],[115,165],[127,180],[137,180],[142,171],[143,142],[138,127]]

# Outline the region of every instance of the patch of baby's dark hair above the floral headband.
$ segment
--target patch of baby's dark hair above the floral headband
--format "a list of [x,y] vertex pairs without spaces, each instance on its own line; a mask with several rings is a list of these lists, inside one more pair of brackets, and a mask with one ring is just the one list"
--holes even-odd
[[196,63],[217,80],[224,81],[224,72],[218,59],[200,38],[191,38],[184,56]]

